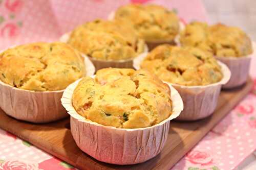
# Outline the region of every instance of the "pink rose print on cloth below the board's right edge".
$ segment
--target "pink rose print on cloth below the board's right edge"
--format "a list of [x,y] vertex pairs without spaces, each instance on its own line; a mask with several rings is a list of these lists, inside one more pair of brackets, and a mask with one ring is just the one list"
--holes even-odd
[[193,164],[198,164],[201,166],[211,165],[213,161],[209,154],[200,151],[191,151],[187,153],[185,159]]

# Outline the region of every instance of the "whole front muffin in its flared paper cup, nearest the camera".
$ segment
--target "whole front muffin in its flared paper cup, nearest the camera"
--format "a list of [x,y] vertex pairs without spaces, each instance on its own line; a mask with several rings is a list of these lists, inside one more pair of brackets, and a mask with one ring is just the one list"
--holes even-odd
[[113,164],[135,164],[158,155],[170,119],[183,109],[173,87],[146,70],[125,68],[101,69],[94,78],[76,81],[61,102],[71,115],[78,147]]

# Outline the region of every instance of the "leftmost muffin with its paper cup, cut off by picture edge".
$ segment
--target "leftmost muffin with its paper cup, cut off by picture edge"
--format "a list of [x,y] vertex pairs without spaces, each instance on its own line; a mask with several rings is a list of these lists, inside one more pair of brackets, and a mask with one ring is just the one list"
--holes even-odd
[[20,120],[45,123],[68,116],[60,98],[86,75],[84,59],[70,45],[37,42],[0,54],[0,106]]

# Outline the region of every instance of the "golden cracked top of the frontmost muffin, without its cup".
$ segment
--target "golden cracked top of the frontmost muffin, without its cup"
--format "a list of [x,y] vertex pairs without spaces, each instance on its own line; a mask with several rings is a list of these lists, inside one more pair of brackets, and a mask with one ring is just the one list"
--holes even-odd
[[116,128],[150,127],[172,114],[169,86],[146,70],[100,69],[79,82],[72,104],[83,117]]

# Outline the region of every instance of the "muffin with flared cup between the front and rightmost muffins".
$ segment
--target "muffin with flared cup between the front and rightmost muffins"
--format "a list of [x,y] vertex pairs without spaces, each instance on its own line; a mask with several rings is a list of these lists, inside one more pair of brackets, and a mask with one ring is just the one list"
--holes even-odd
[[139,62],[136,69],[147,69],[180,93],[184,110],[179,120],[197,120],[211,115],[218,102],[221,85],[230,72],[211,55],[196,47],[159,45]]

